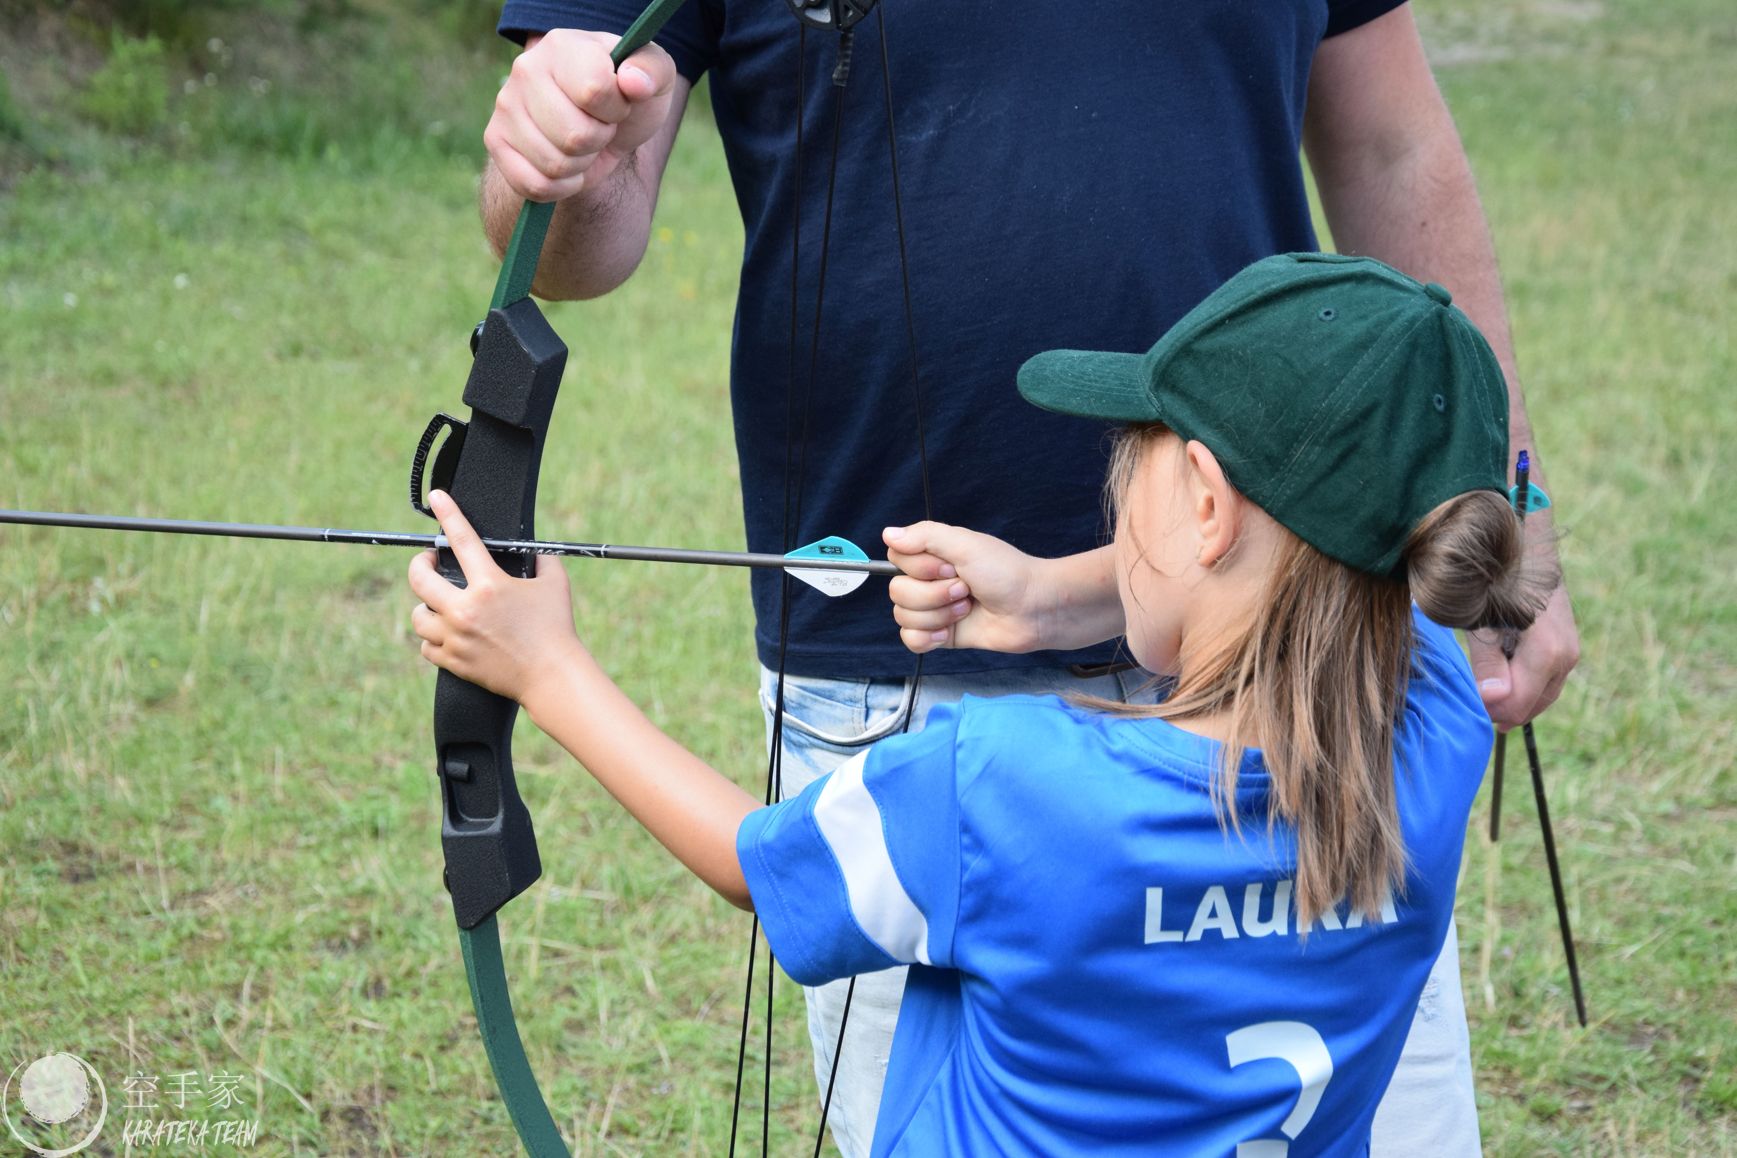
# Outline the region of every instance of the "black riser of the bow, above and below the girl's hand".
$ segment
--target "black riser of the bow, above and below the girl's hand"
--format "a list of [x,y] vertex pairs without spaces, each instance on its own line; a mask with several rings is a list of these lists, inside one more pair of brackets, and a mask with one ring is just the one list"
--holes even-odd
[[[464,387],[471,420],[457,448],[455,429],[434,462],[439,483],[452,455],[446,490],[485,538],[537,536],[537,472],[565,366],[566,345],[535,302],[523,299],[488,311]],[[535,556],[497,552],[493,557],[509,575],[535,575]],[[438,566],[453,583],[464,585],[464,571],[450,549],[439,550]],[[530,811],[512,776],[518,714],[519,705],[512,700],[452,672],[439,674],[434,769],[441,780],[446,889],[460,929],[476,929],[542,875]]]

